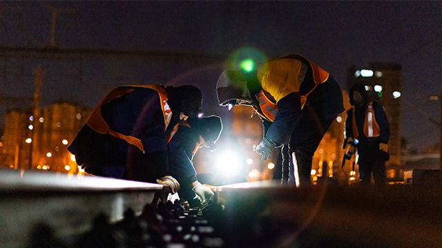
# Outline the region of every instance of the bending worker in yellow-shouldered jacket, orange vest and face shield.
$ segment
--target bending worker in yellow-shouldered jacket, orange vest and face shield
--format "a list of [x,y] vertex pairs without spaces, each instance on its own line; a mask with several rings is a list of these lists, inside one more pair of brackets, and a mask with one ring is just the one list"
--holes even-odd
[[344,111],[338,83],[313,61],[291,54],[260,63],[251,72],[226,70],[217,83],[222,106],[251,105],[262,118],[262,159],[289,145],[289,183],[309,185],[313,154],[327,128]]

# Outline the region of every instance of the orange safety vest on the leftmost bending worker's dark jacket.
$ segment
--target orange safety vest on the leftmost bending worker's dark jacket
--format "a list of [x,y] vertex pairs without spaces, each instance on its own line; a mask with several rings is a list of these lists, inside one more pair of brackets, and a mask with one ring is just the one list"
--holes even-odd
[[[111,136],[114,136],[115,138],[119,138],[123,141],[126,141],[127,143],[131,145],[135,145],[138,149],[140,149],[141,152],[144,152],[144,146],[140,138],[137,138],[135,136],[131,135],[125,135],[122,133],[119,133],[115,130],[111,130],[111,127],[109,127],[108,123],[104,121],[104,118],[102,116],[102,106],[113,99],[117,99],[121,96],[124,96],[126,94],[129,94],[133,92],[137,88],[149,88],[153,89],[158,92],[160,95],[160,101],[162,105],[162,113],[164,117],[164,131],[167,129],[167,126],[169,125],[171,118],[172,118],[172,110],[169,107],[169,104],[167,103],[167,92],[166,89],[162,85],[128,85],[128,86],[122,86],[117,87],[114,90],[112,90],[107,96],[102,99],[102,101],[99,103],[97,107],[93,110],[92,114],[90,114],[88,121],[86,121],[86,125],[90,127],[93,131],[99,133],[99,134],[109,134]],[[169,135],[168,143],[171,140],[173,134],[175,134],[178,124],[175,125],[176,128],[173,128],[173,131],[171,135]]]

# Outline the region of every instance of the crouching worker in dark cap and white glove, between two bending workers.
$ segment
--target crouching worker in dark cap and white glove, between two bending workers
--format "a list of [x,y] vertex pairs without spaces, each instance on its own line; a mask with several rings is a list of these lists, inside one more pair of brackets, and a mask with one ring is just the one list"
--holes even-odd
[[[201,147],[214,150],[221,131],[222,122],[218,116],[189,118],[187,121],[180,121],[180,128],[169,143],[171,176],[180,182],[180,198],[187,200],[192,207],[206,202],[213,196],[211,189],[198,181],[192,163],[193,156]],[[195,197],[195,194],[198,197]]]

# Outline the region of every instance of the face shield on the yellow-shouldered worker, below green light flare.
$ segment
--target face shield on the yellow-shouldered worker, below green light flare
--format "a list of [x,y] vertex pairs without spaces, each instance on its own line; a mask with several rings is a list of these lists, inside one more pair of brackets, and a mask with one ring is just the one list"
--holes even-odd
[[247,79],[241,70],[225,70],[216,83],[220,106],[253,105],[254,101],[247,87]]

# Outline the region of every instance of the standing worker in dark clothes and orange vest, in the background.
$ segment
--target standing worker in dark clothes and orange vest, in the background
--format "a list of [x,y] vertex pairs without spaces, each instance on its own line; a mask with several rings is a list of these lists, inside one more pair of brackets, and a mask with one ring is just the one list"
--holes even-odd
[[358,83],[349,90],[350,104],[345,120],[345,141],[357,140],[359,180],[369,185],[372,174],[376,185],[385,183],[385,161],[388,154],[390,126],[383,106],[369,99],[365,85]]

